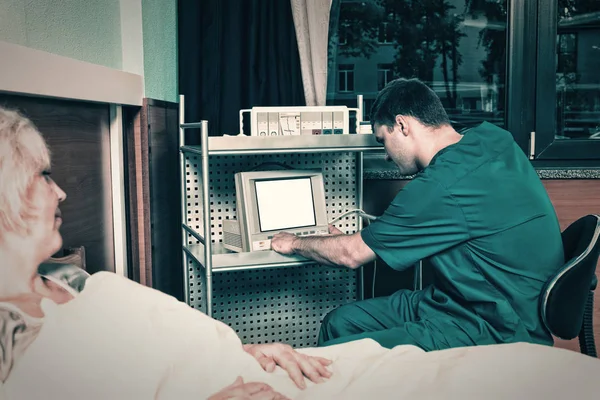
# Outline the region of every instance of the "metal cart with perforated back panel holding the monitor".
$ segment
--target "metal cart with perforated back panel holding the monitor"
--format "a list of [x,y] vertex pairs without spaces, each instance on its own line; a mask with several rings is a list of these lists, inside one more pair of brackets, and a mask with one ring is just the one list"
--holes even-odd
[[[208,136],[208,122],[185,122],[180,97],[182,250],[185,301],[231,326],[244,343],[315,346],[323,316],[363,298],[362,270],[331,268],[273,251],[231,253],[222,221],[236,218],[234,174],[263,163],[320,169],[328,220],[362,207],[363,153],[381,150],[373,135]],[[198,130],[199,146],[185,144]],[[361,229],[355,215],[336,226]]]

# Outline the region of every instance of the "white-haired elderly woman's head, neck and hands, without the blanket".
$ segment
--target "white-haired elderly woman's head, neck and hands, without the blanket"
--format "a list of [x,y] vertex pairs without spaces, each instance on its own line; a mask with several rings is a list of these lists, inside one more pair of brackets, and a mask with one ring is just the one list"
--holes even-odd
[[[0,108],[2,382],[10,377],[13,368],[42,331],[45,316],[43,302],[67,303],[83,287],[85,272],[81,270],[74,269],[71,274],[75,276],[71,277],[63,274],[68,291],[38,274],[38,266],[62,245],[59,233],[62,219],[58,205],[65,198],[66,194],[50,177],[49,151],[37,129],[17,112]],[[328,360],[305,356],[289,346],[272,344],[244,348],[256,357],[265,370],[272,371],[275,364],[284,367],[299,387],[305,386],[304,376],[315,382],[330,376],[326,369]],[[136,355],[132,353],[130,356]],[[252,397],[257,391],[260,394],[257,398],[261,399],[278,396],[267,385],[236,380],[217,397]]]

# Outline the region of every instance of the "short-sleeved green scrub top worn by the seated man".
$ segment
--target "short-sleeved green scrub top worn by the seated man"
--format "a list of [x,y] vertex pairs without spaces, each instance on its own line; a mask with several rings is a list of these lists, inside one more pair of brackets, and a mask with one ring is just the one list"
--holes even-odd
[[425,259],[433,266],[433,285],[406,299],[429,327],[428,343],[412,338],[423,348],[465,345],[465,337],[552,344],[539,298],[564,263],[560,226],[509,132],[487,122],[465,132],[361,235],[396,270]]

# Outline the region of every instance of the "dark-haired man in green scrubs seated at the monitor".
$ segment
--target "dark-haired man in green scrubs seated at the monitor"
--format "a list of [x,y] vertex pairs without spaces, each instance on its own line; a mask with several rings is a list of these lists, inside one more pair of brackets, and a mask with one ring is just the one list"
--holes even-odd
[[384,347],[427,351],[551,345],[538,306],[545,282],[564,263],[560,226],[512,135],[486,122],[459,134],[436,94],[416,79],[389,83],[375,100],[371,123],[387,158],[414,179],[361,232],[281,233],[272,248],[349,268],[380,257],[405,270],[428,259],[434,284],[332,311],[319,344],[371,338]]

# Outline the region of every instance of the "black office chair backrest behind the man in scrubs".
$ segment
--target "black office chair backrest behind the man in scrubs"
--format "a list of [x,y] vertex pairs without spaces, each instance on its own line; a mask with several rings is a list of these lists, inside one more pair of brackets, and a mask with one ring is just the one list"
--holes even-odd
[[597,357],[592,318],[596,264],[600,256],[600,216],[586,215],[562,233],[565,265],[546,283],[540,309],[542,321],[554,336],[579,336],[583,354]]

